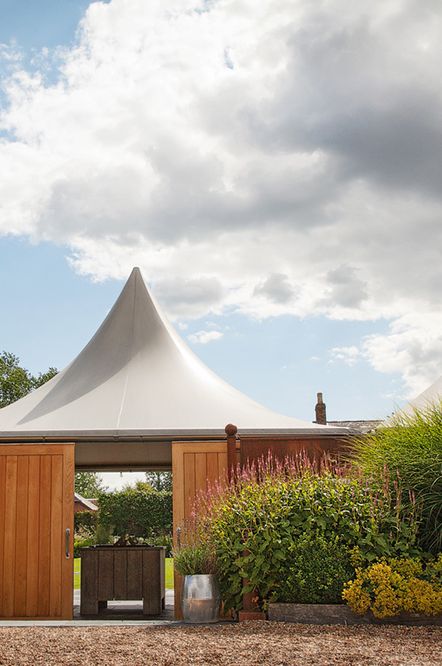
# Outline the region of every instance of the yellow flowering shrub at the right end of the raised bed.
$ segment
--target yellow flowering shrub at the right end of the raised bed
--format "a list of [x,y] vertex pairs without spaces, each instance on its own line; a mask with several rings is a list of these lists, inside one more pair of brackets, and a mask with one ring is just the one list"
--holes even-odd
[[359,615],[368,611],[377,618],[403,611],[438,615],[442,613],[441,574],[442,554],[426,567],[412,558],[379,561],[365,569],[358,567],[342,596]]

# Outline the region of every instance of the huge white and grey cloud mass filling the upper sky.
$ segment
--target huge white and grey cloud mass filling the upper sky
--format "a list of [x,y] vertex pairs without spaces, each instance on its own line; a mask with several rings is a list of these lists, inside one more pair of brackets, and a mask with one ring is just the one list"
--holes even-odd
[[55,83],[3,47],[0,234],[95,280],[139,265],[173,317],[389,320],[361,353],[417,386],[440,364],[437,7],[95,2]]

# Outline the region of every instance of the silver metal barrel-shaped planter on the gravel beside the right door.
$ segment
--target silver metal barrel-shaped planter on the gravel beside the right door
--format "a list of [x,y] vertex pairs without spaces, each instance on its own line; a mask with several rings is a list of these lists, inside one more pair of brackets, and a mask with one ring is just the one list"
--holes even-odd
[[184,576],[181,600],[184,622],[217,622],[219,605],[218,583],[213,574]]

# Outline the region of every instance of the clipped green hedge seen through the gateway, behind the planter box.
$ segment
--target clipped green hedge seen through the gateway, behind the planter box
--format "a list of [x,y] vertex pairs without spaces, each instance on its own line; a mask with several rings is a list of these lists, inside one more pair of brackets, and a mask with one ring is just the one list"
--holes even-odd
[[154,490],[148,483],[137,483],[123,490],[101,493],[99,524],[115,536],[134,536],[146,540],[172,532],[172,493]]

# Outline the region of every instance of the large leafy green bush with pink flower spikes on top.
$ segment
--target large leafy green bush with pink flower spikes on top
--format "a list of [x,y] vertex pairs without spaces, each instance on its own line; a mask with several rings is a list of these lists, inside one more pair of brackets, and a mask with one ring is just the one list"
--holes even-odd
[[[252,470],[201,498],[196,529],[215,549],[227,608],[241,608],[243,579],[249,581],[246,591],[256,590],[264,606],[281,595],[287,600],[290,586],[305,598],[302,581],[315,579],[322,586],[317,600],[325,602],[336,599],[337,589],[328,591],[326,581],[333,575],[343,580],[348,571],[345,549],[359,547],[366,563],[417,552],[414,507],[404,509],[396,499],[388,488],[373,494],[360,479],[332,469],[321,475],[308,465]],[[327,542],[339,554],[334,573]],[[313,559],[315,543],[327,559],[322,579],[320,560]]]

